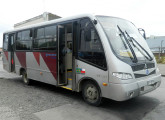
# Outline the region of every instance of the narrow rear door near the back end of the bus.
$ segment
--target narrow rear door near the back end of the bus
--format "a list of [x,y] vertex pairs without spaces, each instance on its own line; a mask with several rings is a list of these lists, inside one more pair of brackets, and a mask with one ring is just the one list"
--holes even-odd
[[15,34],[9,34],[9,71],[15,71],[15,61],[14,61],[14,42],[15,42]]

